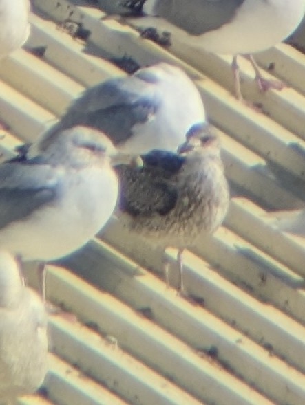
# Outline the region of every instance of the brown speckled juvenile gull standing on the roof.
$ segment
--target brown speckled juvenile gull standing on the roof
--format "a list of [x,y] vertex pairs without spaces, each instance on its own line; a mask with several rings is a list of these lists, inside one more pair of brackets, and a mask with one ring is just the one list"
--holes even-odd
[[[178,248],[180,292],[182,252],[201,232],[213,233],[229,205],[229,188],[215,135],[195,127],[178,153],[151,151],[143,166],[118,165],[118,218],[131,232],[162,248]],[[165,274],[168,274],[165,269]]]

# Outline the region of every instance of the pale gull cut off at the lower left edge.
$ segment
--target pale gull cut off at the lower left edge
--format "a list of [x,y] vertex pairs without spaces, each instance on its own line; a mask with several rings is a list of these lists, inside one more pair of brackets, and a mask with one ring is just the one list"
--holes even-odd
[[[48,371],[47,314],[23,285],[19,264],[0,251],[0,401],[34,393]],[[1,402],[2,403],[2,402]]]

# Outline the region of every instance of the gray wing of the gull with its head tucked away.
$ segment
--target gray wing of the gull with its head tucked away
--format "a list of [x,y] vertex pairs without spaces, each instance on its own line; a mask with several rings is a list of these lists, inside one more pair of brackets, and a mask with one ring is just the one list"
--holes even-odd
[[134,76],[115,78],[87,89],[52,127],[41,142],[48,147],[63,129],[85,125],[105,132],[114,144],[133,135],[135,124],[145,122],[158,108],[154,87]]

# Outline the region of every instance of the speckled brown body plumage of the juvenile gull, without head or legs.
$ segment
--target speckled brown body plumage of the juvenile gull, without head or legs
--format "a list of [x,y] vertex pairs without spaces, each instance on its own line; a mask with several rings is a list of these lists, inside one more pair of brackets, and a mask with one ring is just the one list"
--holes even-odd
[[158,245],[185,248],[202,230],[215,231],[227,213],[229,188],[218,153],[191,153],[174,174],[160,166],[121,166],[118,175],[127,226]]

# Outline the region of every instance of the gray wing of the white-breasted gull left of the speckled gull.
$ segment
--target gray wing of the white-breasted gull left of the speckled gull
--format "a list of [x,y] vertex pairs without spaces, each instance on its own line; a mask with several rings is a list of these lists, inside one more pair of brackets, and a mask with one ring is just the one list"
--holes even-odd
[[25,219],[59,193],[59,179],[48,165],[4,163],[0,166],[0,229]]

